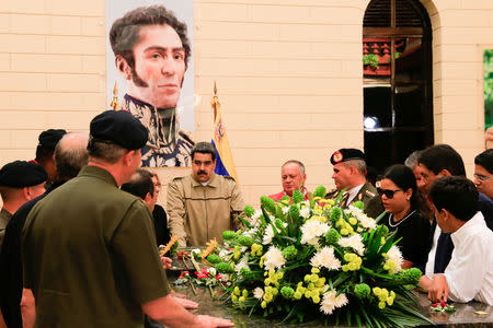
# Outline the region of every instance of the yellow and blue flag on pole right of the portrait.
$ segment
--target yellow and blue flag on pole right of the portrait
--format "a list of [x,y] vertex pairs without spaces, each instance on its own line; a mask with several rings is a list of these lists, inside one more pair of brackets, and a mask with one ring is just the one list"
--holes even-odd
[[216,149],[216,168],[214,172],[219,175],[230,176],[238,183],[237,169],[229,148],[228,136],[222,124],[219,99],[217,97],[217,87],[214,83],[214,97],[210,103],[214,109],[214,136],[211,143]]

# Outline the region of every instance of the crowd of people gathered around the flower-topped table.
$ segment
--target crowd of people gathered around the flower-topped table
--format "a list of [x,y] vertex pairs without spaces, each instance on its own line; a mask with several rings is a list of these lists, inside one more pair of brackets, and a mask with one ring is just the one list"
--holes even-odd
[[[194,316],[198,305],[170,294],[158,245],[221,242],[240,227],[244,202],[234,179],[216,175],[209,142],[191,150],[191,173],[161,183],[139,168],[147,129],[125,110],[98,115],[90,133],[47,130],[36,157],[0,169],[0,308],[7,327],[216,327],[229,320]],[[493,150],[474,159],[474,183],[447,144],[412,153],[404,164],[367,178],[365,154],[340,149],[330,156],[342,203],[362,201],[395,231],[402,268],[420,268],[432,301],[493,305]],[[297,160],[280,167],[279,201],[300,190],[307,171]],[[78,324],[73,324],[78,323]],[[3,325],[4,325],[3,324]],[[1,327],[1,326],[0,326]]]

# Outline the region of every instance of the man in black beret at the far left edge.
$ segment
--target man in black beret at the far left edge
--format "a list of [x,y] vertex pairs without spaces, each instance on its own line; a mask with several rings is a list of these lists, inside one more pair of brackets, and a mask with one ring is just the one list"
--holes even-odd
[[0,195],[3,201],[0,210],[0,249],[10,219],[22,204],[45,192],[47,178],[41,165],[25,161],[14,161],[0,169]]

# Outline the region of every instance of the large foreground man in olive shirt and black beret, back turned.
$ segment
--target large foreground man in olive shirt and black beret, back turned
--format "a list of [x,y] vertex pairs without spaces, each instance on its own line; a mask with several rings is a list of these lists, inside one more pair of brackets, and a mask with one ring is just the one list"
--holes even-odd
[[24,288],[35,327],[229,326],[190,314],[169,295],[148,207],[118,186],[140,165],[146,128],[108,110],[90,126],[89,164],[30,212],[22,233]]

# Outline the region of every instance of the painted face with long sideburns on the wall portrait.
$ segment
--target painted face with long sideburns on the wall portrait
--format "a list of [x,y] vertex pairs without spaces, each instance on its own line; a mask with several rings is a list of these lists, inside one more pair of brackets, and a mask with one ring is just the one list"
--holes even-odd
[[128,94],[158,108],[175,107],[185,74],[180,36],[170,25],[144,26],[139,35],[133,50],[134,69],[123,65],[125,79],[129,80]]

